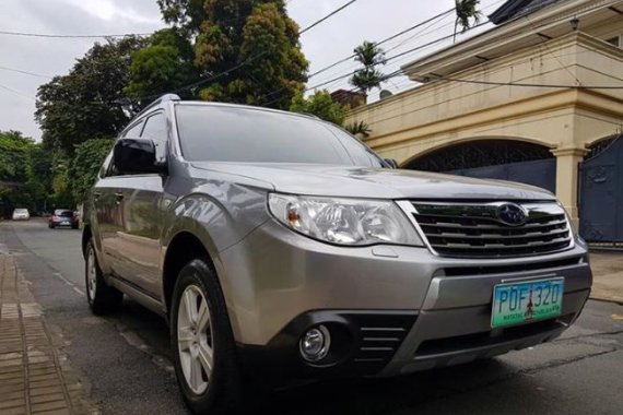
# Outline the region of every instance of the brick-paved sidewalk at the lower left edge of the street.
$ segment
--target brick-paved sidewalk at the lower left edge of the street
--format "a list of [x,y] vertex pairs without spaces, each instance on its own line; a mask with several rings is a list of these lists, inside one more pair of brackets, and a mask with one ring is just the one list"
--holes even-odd
[[0,241],[0,414],[98,414]]

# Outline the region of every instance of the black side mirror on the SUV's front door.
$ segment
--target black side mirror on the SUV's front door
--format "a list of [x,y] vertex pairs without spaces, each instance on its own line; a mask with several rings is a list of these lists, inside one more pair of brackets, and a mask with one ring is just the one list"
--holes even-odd
[[166,173],[166,166],[156,163],[152,140],[121,139],[115,144],[113,163],[122,175]]

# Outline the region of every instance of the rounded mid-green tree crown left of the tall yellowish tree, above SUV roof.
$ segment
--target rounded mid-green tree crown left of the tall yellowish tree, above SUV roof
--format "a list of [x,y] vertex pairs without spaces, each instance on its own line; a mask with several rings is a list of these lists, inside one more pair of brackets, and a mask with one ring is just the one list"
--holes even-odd
[[192,90],[183,88],[199,80],[193,58],[192,45],[179,29],[158,31],[144,48],[133,52],[129,83],[124,93],[137,99],[139,107],[144,107],[158,95],[177,90],[180,90],[178,95],[183,98],[193,97]]

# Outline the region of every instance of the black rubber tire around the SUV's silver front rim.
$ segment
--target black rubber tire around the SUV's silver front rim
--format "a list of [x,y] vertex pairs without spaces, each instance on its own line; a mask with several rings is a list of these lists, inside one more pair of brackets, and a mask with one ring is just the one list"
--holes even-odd
[[[203,259],[190,261],[175,284],[171,309],[171,344],[177,383],[188,408],[195,414],[240,413],[244,411],[244,382],[225,299],[215,272]],[[192,392],[185,378],[178,346],[178,315],[181,296],[189,286],[201,290],[210,316],[213,365],[208,388],[201,394]]]

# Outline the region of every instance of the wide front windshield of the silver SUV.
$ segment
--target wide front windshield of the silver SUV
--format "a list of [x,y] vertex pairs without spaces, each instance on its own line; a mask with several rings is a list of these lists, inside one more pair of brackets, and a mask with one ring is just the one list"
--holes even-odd
[[380,158],[330,123],[252,108],[177,105],[186,159],[383,167]]

